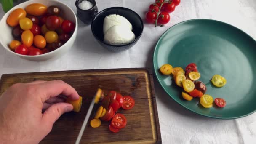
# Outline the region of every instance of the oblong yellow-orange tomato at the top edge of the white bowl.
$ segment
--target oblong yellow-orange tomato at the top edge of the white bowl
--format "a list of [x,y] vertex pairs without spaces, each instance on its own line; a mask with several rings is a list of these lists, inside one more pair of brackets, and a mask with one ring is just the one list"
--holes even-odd
[[47,6],[40,3],[32,3],[25,8],[26,12],[33,16],[42,16],[47,12]]

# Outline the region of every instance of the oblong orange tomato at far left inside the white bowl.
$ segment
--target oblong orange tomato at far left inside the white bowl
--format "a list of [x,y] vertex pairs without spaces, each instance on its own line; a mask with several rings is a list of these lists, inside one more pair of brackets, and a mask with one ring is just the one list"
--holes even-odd
[[21,18],[26,17],[27,13],[22,8],[17,8],[7,18],[7,24],[11,27],[15,27],[19,24]]

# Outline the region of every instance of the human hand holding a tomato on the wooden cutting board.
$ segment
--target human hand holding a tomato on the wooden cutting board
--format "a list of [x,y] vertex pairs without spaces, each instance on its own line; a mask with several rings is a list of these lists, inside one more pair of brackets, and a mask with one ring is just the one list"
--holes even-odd
[[37,144],[65,112],[73,110],[59,95],[79,99],[61,80],[18,83],[0,96],[0,143]]

